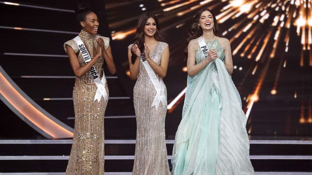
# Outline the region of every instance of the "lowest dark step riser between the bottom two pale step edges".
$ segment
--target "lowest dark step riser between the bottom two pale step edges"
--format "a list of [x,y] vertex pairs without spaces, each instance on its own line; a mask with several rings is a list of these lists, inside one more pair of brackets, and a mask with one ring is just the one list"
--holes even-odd
[[[133,157],[133,156],[131,156]],[[134,159],[105,159],[105,172],[130,172]],[[172,168],[170,160],[169,167]],[[61,160],[0,160],[2,173],[64,172],[68,159]],[[255,171],[312,172],[310,159],[251,159]]]

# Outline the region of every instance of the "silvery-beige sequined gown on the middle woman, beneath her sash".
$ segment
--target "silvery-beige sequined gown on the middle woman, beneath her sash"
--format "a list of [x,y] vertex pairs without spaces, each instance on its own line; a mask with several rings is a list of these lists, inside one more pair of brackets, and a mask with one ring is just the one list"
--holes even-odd
[[[168,46],[158,42],[150,57],[160,65],[161,54]],[[132,45],[129,45],[131,49]],[[159,78],[159,76],[156,74]],[[165,140],[165,117],[167,107],[160,102],[158,108],[152,106],[156,90],[142,62],[138,79],[133,89],[134,110],[137,121],[133,175],[169,175]],[[167,98],[167,89],[164,92]]]

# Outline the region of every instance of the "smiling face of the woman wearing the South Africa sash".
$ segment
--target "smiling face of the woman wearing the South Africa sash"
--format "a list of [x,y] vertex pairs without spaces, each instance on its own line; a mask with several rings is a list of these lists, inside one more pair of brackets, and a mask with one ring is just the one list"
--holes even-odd
[[91,33],[91,34],[97,34],[98,27],[99,27],[99,20],[97,19],[97,16],[95,13],[89,13],[85,19],[84,22],[80,22],[81,26],[83,27],[83,30],[85,32]]

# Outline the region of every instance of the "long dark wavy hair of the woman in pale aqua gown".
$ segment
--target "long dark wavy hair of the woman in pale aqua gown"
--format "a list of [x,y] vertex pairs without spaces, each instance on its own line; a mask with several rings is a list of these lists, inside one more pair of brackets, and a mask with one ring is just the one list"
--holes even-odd
[[[205,11],[208,11],[208,12],[210,12],[212,14],[213,23],[214,23],[214,27],[215,27],[215,30],[213,30],[213,34],[216,35],[216,36],[219,36],[218,35],[218,22],[217,22],[217,19],[216,19],[216,15],[209,8],[201,8],[196,13],[196,15],[194,16],[194,22],[193,22],[193,24],[191,26],[191,29],[189,30],[188,39],[186,40],[187,45],[188,45],[188,43],[191,40],[196,39],[196,38],[198,38],[198,37],[200,37],[202,35],[202,27],[199,26],[199,28],[198,28],[198,24],[199,24],[199,18],[201,17],[202,12],[205,12]],[[188,53],[187,48],[186,48],[185,53],[187,55],[187,53]]]

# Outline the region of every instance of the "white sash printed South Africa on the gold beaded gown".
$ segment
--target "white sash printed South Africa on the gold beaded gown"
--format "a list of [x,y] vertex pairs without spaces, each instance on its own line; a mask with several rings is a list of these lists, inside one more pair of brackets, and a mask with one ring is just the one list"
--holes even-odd
[[[83,58],[85,59],[85,63],[87,64],[91,60],[91,57],[90,57],[90,54],[89,54],[87,48],[85,47],[85,45],[83,44],[83,42],[79,36],[76,36],[74,38],[74,40],[76,41],[78,48],[81,52],[81,55],[83,56]],[[100,76],[97,74],[94,65],[91,67],[89,72],[90,72],[90,74],[93,78],[93,81],[97,87],[96,92],[95,92],[95,96],[94,96],[94,101],[98,100],[98,102],[100,102],[102,96],[104,97],[105,101],[108,101],[108,96],[107,96],[107,92],[105,89],[106,78],[105,78],[104,71],[103,71],[102,80],[100,80]]]

